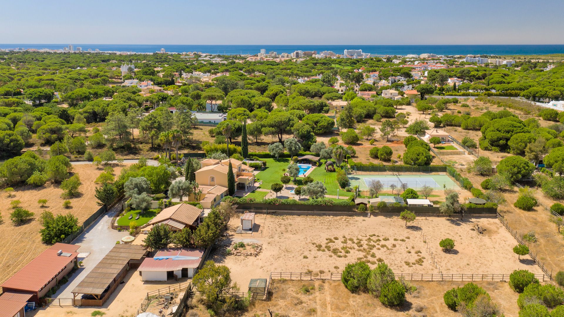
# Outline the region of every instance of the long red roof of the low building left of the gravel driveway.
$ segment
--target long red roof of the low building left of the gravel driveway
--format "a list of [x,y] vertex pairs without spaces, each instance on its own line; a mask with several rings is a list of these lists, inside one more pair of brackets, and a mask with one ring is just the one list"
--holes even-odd
[[[38,292],[65,266],[72,265],[69,262],[78,256],[76,252],[78,248],[80,245],[55,243],[5,281],[2,287]],[[70,253],[70,256],[58,256],[59,250],[62,250],[63,253]]]

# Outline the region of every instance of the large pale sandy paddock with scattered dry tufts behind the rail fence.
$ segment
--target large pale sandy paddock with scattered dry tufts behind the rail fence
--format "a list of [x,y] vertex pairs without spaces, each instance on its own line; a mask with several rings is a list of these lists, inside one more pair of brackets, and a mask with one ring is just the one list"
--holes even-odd
[[[438,274],[428,244],[443,274],[510,274],[516,269],[541,274],[528,256],[518,261],[513,253],[515,239],[496,218],[455,221],[420,217],[406,227],[398,217],[257,214],[256,222],[259,229],[253,234],[236,234],[233,229],[239,224],[239,214],[233,217],[223,248],[210,257],[231,269],[233,280],[243,291],[250,279],[268,278],[270,272],[309,270],[314,276],[328,276],[341,272],[356,259],[369,261],[371,267],[383,259],[396,273]],[[486,232],[479,235],[471,230],[474,223],[481,224]],[[347,243],[342,243],[343,236]],[[438,245],[446,237],[455,240],[450,253],[444,253]],[[257,257],[225,256],[224,249],[232,241],[261,243],[263,250]]]

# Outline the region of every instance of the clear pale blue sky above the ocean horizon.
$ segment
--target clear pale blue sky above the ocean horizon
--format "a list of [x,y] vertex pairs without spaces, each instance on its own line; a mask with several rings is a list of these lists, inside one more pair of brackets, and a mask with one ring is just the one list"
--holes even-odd
[[0,43],[564,44],[562,0],[0,3]]

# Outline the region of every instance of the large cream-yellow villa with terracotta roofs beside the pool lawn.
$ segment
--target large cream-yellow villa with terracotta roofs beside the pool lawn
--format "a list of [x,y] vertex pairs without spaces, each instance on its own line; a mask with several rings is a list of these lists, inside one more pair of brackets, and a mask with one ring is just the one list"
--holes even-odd
[[227,173],[231,162],[233,176],[235,176],[235,189],[249,191],[254,188],[254,168],[246,166],[243,162],[228,158],[227,160],[213,160],[206,158],[200,162],[202,168],[197,170],[196,183],[205,186],[222,186],[228,188]]

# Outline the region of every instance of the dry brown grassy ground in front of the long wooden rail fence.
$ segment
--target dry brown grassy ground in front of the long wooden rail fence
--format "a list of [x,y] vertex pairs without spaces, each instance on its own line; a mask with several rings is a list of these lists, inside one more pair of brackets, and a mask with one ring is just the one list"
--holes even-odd
[[[402,307],[390,308],[377,298],[366,294],[352,294],[341,281],[274,280],[269,301],[254,301],[246,312],[233,314],[241,317],[273,316],[460,316],[444,305],[443,294],[448,289],[460,287],[466,282],[422,282],[411,283],[417,290],[406,296]],[[507,283],[477,282],[497,303],[505,316],[517,316],[517,297]],[[193,314],[193,315],[190,315]],[[198,305],[188,316],[209,316]]]

